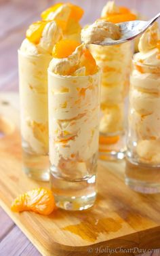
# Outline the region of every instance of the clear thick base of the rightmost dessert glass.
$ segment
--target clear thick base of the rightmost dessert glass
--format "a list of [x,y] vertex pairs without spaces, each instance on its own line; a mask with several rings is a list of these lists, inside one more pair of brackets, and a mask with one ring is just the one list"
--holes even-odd
[[160,166],[151,166],[126,159],[125,184],[143,194],[160,193]]

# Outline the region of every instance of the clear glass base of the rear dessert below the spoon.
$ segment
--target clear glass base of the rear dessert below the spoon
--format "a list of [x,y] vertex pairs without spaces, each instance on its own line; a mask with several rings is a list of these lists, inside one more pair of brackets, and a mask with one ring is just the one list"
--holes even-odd
[[100,134],[99,158],[104,161],[116,161],[125,158],[125,134],[106,136]]

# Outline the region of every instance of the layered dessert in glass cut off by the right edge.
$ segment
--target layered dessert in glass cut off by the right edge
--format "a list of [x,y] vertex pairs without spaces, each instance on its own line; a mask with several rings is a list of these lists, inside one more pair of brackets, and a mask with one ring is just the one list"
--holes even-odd
[[129,92],[125,183],[142,193],[160,192],[160,31],[140,37]]

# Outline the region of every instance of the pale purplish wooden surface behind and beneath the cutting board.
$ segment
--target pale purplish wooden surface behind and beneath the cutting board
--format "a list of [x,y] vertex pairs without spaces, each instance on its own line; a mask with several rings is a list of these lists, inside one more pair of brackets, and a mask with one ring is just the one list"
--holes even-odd
[[[67,1],[67,0],[66,0]],[[31,22],[39,19],[39,14],[45,7],[58,1],[52,0],[0,0],[0,91],[18,90],[18,69],[17,69],[17,49],[24,39],[26,28]],[[75,0],[72,3],[81,5],[85,10],[85,15],[81,24],[87,24],[100,16],[100,10],[106,0]],[[151,18],[160,9],[159,0],[116,0],[120,5],[126,5],[138,10],[142,15]],[[9,101],[14,108],[18,109],[17,95],[5,94],[5,101]],[[4,103],[5,105],[5,103]],[[6,109],[5,109],[6,110]],[[12,129],[12,128],[11,128]],[[0,134],[1,135],[1,134]],[[0,255],[2,256],[39,256],[41,253],[28,241],[19,231],[18,236],[14,236],[12,230],[18,230],[14,222],[0,208]],[[23,242],[21,236],[24,236]],[[20,250],[12,250],[12,242]],[[137,253],[136,253],[137,254]],[[91,253],[90,253],[91,255]],[[143,254],[144,255],[144,254]],[[147,253],[145,256],[160,256],[159,252]]]

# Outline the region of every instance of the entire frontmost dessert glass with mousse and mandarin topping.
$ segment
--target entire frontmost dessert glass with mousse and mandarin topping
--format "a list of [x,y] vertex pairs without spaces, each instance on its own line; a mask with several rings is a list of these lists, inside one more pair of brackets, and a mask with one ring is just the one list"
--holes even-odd
[[50,180],[56,205],[83,210],[96,200],[100,72],[85,46],[64,39],[48,69]]

